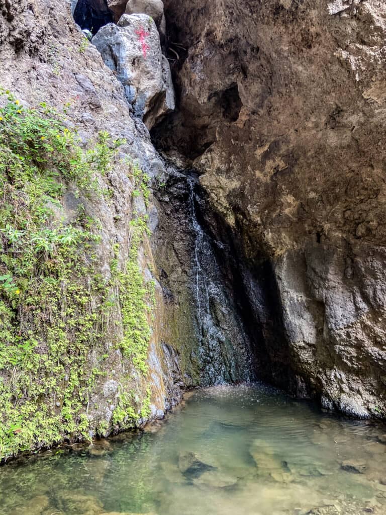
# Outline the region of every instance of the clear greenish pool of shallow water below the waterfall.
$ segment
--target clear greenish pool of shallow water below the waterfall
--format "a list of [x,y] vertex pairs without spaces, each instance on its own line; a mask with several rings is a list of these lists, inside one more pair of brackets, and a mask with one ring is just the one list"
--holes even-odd
[[156,432],[4,467],[0,513],[384,515],[385,433],[262,386],[198,390]]

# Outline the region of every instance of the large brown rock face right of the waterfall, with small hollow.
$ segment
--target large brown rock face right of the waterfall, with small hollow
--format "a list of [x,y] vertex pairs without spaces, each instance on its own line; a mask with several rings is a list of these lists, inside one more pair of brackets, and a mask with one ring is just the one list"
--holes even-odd
[[384,415],[384,2],[165,9],[180,112],[154,138],[241,238],[255,313],[251,277],[269,263],[283,338],[268,345],[263,326],[256,366],[325,407]]

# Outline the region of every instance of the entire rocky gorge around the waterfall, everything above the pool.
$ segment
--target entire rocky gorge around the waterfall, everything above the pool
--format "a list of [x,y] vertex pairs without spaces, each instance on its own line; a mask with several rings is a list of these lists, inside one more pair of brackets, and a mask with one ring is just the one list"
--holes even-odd
[[[161,4],[2,4],[1,144],[39,178],[0,162],[2,457],[200,384],[386,413],[383,3]],[[59,239],[27,273],[15,234]]]

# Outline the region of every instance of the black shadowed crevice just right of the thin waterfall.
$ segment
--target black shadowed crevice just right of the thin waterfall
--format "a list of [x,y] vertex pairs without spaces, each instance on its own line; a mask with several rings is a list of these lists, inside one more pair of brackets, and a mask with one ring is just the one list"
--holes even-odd
[[210,209],[202,188],[196,188],[199,222],[213,242],[223,281],[233,296],[237,317],[249,340],[252,376],[294,392],[296,382],[271,260],[258,245],[247,257],[243,229],[231,228]]

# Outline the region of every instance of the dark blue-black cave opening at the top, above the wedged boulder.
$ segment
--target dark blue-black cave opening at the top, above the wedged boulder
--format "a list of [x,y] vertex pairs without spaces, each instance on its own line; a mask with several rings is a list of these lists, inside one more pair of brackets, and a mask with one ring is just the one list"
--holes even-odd
[[82,30],[90,30],[93,35],[100,27],[113,21],[113,14],[106,0],[78,0],[73,16]]

